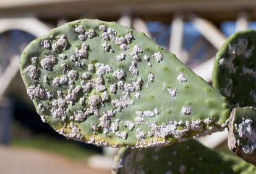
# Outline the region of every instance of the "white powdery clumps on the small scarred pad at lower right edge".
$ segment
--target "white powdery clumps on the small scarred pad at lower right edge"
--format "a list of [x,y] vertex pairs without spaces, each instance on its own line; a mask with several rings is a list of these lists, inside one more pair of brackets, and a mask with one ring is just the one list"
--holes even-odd
[[252,154],[256,149],[256,130],[252,127],[252,123],[251,119],[243,118],[241,124],[235,125],[238,135],[247,142],[247,144],[242,145],[242,151],[245,154]]

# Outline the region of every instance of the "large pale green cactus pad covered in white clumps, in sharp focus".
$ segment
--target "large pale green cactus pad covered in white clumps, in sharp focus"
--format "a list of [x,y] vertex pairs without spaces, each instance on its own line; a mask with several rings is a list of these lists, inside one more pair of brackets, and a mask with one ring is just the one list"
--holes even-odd
[[78,20],[23,51],[20,71],[43,121],[98,146],[157,146],[223,129],[230,106],[154,41]]

